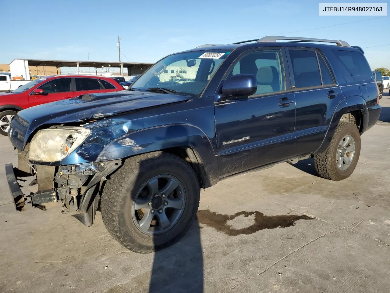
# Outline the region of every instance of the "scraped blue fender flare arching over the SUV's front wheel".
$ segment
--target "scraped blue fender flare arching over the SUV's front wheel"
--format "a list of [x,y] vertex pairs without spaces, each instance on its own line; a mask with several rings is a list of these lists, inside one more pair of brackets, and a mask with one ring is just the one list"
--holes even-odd
[[204,188],[218,182],[218,160],[213,145],[202,130],[190,124],[163,125],[124,134],[108,143],[96,161],[123,159],[174,147],[193,150],[192,155],[199,163]]

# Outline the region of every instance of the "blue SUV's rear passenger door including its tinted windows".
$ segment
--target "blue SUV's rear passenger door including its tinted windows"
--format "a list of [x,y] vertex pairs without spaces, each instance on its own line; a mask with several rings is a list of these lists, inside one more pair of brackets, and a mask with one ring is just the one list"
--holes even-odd
[[291,47],[287,53],[296,101],[297,152],[310,154],[321,146],[333,110],[343,95],[321,52]]

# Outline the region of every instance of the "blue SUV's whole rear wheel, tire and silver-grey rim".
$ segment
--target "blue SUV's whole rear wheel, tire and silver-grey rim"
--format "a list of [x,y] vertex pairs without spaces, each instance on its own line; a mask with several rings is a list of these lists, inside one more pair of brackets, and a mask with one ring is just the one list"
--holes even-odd
[[328,148],[314,155],[314,167],[321,177],[338,181],[352,174],[359,156],[359,130],[353,123],[340,121]]

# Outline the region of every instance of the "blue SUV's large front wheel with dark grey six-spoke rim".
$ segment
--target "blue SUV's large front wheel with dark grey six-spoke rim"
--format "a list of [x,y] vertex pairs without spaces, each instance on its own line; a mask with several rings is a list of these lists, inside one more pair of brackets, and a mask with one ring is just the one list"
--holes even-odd
[[150,253],[178,241],[199,206],[199,181],[176,155],[153,152],[127,159],[106,182],[103,222],[124,247]]

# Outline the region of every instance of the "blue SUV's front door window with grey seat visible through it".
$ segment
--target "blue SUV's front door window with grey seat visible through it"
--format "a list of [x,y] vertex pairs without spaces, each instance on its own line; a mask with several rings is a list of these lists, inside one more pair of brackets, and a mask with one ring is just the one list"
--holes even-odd
[[257,80],[254,95],[283,91],[284,73],[279,50],[261,50],[243,56],[233,67],[228,77],[240,73],[252,74]]

